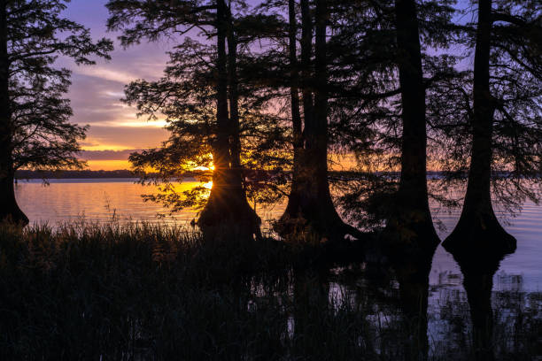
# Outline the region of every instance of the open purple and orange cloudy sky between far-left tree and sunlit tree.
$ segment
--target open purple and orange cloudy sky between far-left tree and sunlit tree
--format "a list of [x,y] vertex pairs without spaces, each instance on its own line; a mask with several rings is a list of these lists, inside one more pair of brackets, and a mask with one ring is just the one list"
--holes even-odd
[[65,16],[89,27],[95,40],[108,37],[115,42],[112,60],[97,59],[97,65],[74,65],[59,58],[58,65],[72,70],[72,87],[67,95],[74,108],[72,122],[89,125],[81,142],[81,157],[91,170],[128,169],[128,155],[134,150],[159,146],[167,132],[164,121],[136,118],[136,109],[120,102],[123,88],[136,79],[159,78],[167,61],[167,42],[144,43],[124,50],[118,33],[108,33],[106,0],[72,0]]

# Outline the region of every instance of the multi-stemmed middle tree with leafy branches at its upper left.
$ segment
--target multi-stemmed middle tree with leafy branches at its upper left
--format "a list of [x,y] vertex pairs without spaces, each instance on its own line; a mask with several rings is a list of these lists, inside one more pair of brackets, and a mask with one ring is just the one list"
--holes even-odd
[[286,210],[275,224],[275,230],[287,238],[300,234],[313,234],[321,239],[360,235],[339,218],[329,191],[331,5],[335,4],[272,1],[259,7],[287,12],[283,28],[270,35],[275,46],[260,58],[268,62],[262,62],[261,66],[273,64],[274,70],[259,79],[270,92],[277,91],[290,104],[288,118],[293,149],[290,194]]

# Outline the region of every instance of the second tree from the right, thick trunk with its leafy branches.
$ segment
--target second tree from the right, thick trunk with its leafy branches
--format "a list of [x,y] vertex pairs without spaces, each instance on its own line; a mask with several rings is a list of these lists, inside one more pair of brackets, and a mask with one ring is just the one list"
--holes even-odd
[[344,10],[351,14],[336,36],[350,66],[337,82],[333,130],[365,172],[345,182],[341,205],[361,227],[385,224],[390,242],[437,239],[426,181],[426,94],[453,76],[455,58],[444,52],[453,35],[451,4],[356,3]]

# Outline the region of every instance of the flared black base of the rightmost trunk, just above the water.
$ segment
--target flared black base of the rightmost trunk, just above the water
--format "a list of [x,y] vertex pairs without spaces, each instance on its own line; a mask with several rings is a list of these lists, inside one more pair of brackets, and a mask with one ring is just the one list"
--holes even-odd
[[483,248],[488,253],[502,254],[514,252],[516,244],[515,237],[500,226],[496,217],[461,215],[459,223],[442,245],[451,253]]

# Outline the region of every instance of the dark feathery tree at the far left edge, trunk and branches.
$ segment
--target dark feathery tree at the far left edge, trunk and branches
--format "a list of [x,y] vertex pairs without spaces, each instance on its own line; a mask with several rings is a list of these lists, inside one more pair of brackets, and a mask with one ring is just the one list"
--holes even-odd
[[81,167],[76,153],[87,127],[69,123],[63,98],[70,72],[54,66],[58,56],[78,65],[109,58],[112,42],[93,42],[89,30],[65,19],[61,0],[0,1],[0,219],[27,223],[15,200],[19,168]]

